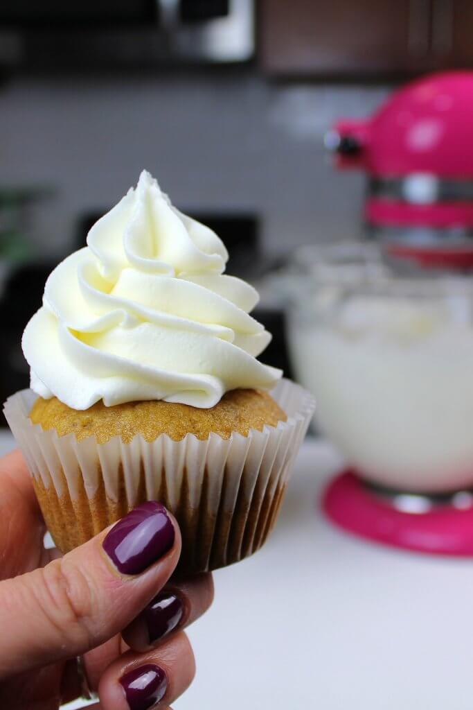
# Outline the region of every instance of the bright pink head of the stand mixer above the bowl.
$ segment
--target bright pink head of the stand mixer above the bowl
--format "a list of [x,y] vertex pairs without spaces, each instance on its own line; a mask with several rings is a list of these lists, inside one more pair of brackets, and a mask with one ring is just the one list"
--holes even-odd
[[365,219],[387,253],[473,267],[473,72],[407,84],[369,119],[325,136],[338,168],[365,170]]

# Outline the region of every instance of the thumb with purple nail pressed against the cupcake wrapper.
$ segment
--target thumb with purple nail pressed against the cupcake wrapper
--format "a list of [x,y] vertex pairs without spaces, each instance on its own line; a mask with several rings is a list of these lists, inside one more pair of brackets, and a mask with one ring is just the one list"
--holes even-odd
[[0,581],[0,680],[119,633],[169,579],[180,548],[177,523],[149,501],[64,557]]

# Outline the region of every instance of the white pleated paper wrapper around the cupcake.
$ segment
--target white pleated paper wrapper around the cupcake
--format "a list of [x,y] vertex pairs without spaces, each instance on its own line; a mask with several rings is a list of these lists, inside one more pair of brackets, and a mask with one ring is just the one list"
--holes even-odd
[[23,390],[4,405],[6,420],[35,481],[46,523],[63,552],[82,544],[145,500],[159,500],[182,532],[183,572],[216,569],[258,549],[274,525],[294,458],[315,403],[289,380],[272,397],[287,415],[276,427],[229,439],[188,434],[129,444],[98,444],[33,425],[37,395]]

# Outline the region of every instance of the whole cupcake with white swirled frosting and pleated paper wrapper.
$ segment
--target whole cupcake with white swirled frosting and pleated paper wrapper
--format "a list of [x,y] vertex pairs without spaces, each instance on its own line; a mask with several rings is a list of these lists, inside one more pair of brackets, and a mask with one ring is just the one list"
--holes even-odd
[[183,573],[265,542],[313,400],[257,360],[271,336],[227,260],[143,172],[48,278],[4,411],[62,552],[145,500],[176,516]]

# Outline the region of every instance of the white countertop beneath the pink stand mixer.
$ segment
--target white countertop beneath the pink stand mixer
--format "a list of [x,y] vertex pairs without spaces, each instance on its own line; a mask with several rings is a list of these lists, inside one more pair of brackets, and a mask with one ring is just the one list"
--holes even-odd
[[308,439],[267,545],[216,572],[175,710],[471,710],[473,560],[335,530],[317,501],[339,464]]

